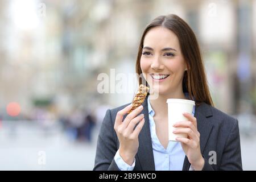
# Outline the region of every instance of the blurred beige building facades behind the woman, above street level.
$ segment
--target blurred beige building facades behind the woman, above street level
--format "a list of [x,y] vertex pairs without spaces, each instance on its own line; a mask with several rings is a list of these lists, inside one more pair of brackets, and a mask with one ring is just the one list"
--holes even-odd
[[112,68],[115,75],[135,73],[144,27],[170,13],[184,18],[199,39],[216,107],[256,113],[255,0],[31,0],[1,1],[0,8],[2,113],[14,100],[24,113],[48,103],[56,115],[126,104],[135,79],[129,93],[100,94],[97,76],[110,76]]

